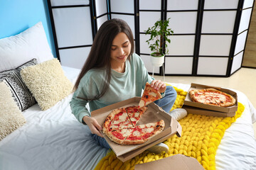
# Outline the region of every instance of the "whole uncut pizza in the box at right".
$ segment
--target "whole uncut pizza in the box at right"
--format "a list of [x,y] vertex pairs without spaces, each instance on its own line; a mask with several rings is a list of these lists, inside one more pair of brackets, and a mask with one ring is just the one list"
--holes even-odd
[[188,92],[191,101],[213,106],[229,107],[235,105],[235,98],[217,89],[193,89]]

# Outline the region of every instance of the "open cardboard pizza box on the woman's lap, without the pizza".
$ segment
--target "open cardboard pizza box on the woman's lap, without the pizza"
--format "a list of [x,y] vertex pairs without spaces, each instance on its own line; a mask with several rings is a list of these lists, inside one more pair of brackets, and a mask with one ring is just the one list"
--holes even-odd
[[[107,118],[107,115],[109,115],[112,110],[114,110],[115,108],[125,108],[127,106],[138,106],[140,99],[140,97],[134,97],[129,98],[125,101],[114,103],[110,106],[106,106],[96,111],[92,111],[91,116],[95,118],[100,125],[102,125]],[[120,159],[122,162],[126,162],[127,160],[136,157],[138,154],[141,154],[149,147],[152,147],[160,142],[164,142],[164,140],[167,140],[173,135],[178,135],[178,137],[181,137],[181,125],[178,123],[178,121],[174,118],[171,118],[171,115],[166,113],[155,103],[149,104],[147,111],[142,115],[142,118],[139,119],[137,125],[155,123],[159,120],[164,120],[164,131],[150,138],[147,142],[141,145],[119,145],[115,142],[112,142],[112,140],[110,140],[103,132],[102,135],[105,140],[107,140],[114,153],[117,154],[117,158]]]

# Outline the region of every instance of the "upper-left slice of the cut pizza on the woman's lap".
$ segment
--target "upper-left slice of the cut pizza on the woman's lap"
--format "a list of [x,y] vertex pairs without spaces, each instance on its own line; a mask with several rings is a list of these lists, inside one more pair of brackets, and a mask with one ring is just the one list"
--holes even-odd
[[107,134],[112,130],[119,130],[122,128],[132,128],[132,122],[129,120],[125,108],[114,109],[105,119],[102,125],[102,131]]

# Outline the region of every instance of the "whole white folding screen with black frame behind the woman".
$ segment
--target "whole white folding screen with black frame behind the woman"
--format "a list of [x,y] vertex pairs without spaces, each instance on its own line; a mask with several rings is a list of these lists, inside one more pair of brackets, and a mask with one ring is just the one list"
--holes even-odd
[[[132,28],[135,49],[153,71],[145,30],[171,18],[174,30],[166,75],[229,77],[242,65],[254,0],[48,0],[60,61],[81,68],[101,24],[121,18]],[[58,54],[57,54],[58,55]],[[156,74],[163,74],[155,68]]]

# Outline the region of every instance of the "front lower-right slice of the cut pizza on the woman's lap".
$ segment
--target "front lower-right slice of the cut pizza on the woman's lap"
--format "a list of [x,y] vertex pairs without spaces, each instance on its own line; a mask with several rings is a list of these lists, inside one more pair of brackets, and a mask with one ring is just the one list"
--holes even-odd
[[159,134],[164,130],[164,120],[160,120],[156,123],[147,123],[145,125],[139,125],[134,127],[131,134],[122,142],[123,145],[137,145],[143,144],[151,137]]

